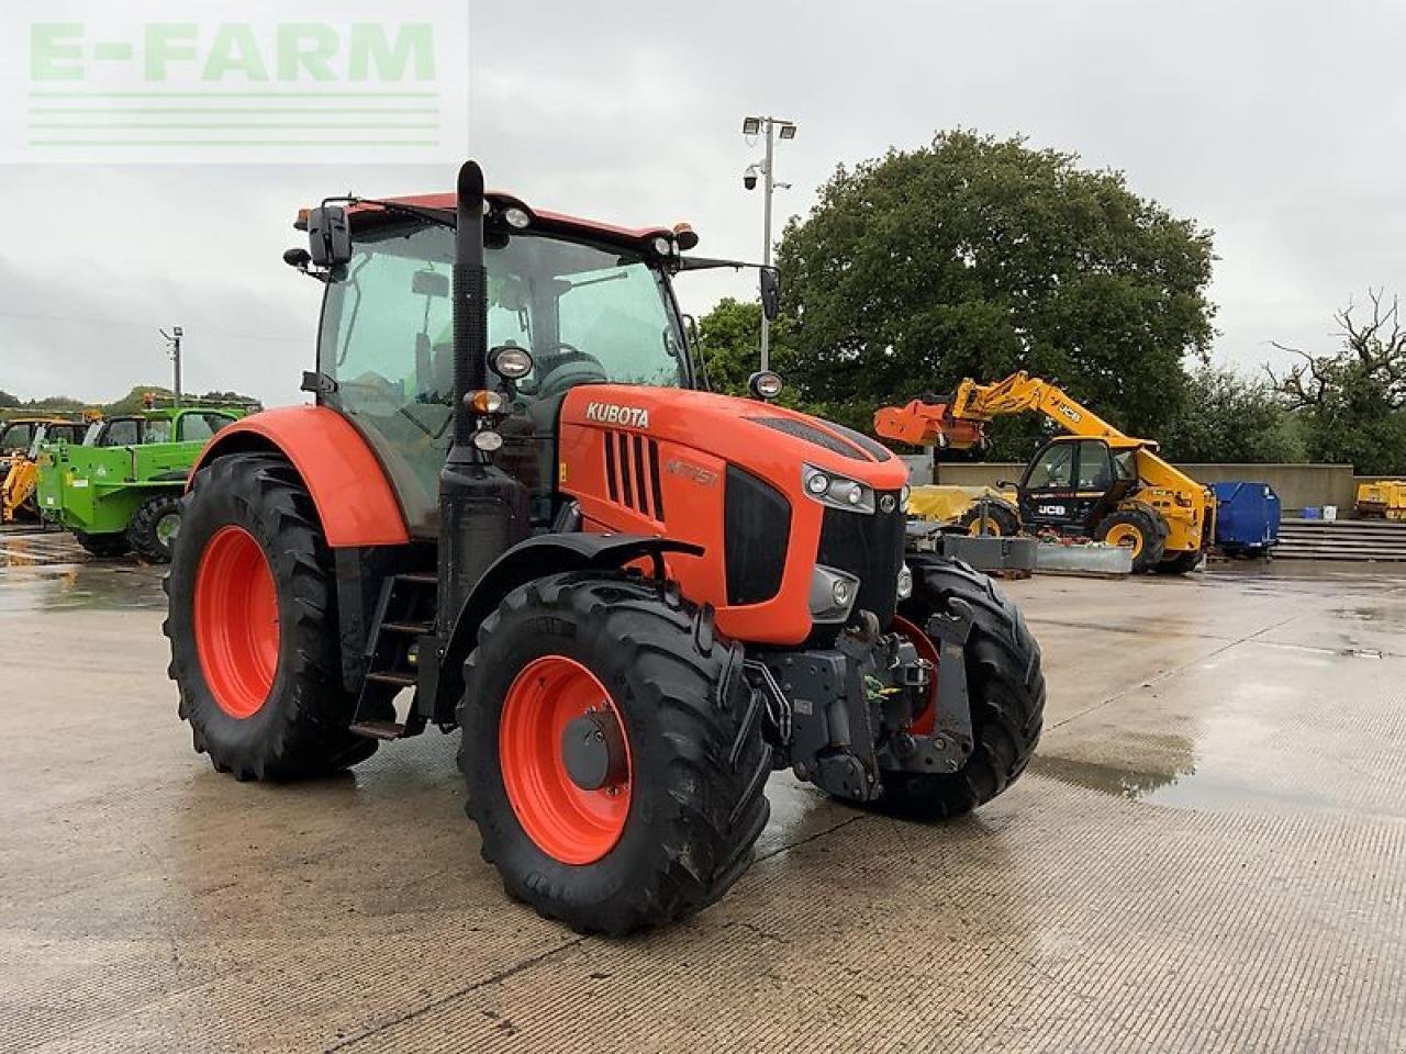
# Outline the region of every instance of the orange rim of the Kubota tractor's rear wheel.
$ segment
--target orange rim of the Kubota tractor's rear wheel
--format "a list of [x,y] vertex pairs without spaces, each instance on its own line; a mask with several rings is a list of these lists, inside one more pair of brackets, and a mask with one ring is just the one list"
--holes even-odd
[[221,527],[200,557],[195,651],[221,710],[243,720],[263,708],[278,672],[278,592],[243,527]]

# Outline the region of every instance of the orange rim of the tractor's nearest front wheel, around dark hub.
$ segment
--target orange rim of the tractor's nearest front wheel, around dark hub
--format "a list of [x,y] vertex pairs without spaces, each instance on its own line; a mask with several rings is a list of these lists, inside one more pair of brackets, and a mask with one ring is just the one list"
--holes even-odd
[[[567,725],[585,714],[614,721],[624,745],[621,777],[599,790],[578,787],[562,757]],[[630,736],[610,693],[582,663],[544,655],[519,672],[498,722],[498,763],[517,822],[547,856],[589,864],[614,849],[630,815]]]

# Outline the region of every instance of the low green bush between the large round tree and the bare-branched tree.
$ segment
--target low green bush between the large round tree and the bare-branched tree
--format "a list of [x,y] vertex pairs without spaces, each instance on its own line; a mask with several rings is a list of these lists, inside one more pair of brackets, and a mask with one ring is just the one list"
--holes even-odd
[[1185,406],[1160,433],[1161,453],[1182,462],[1302,461],[1298,422],[1271,384],[1202,365],[1187,378]]

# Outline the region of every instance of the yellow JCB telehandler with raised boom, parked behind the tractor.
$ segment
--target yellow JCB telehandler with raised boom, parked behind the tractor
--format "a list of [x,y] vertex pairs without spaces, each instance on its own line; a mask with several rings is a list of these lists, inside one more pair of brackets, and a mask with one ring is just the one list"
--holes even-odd
[[1153,440],[1119,431],[1024,370],[994,384],[967,378],[946,402],[884,406],[875,413],[875,431],[915,445],[972,450],[986,444],[988,422],[1014,413],[1043,413],[1069,433],[1050,438],[1025,468],[1018,486],[1025,527],[1132,545],[1135,571],[1197,566],[1213,534],[1213,492],[1157,454]]

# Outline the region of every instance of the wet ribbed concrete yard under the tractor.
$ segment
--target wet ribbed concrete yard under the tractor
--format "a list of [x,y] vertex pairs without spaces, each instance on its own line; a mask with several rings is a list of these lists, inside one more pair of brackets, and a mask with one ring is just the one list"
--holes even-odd
[[159,569],[0,565],[0,1050],[1406,1048],[1406,572],[1007,589],[1015,787],[915,825],[773,777],[731,894],[610,942],[503,898],[453,736],[235,783]]

